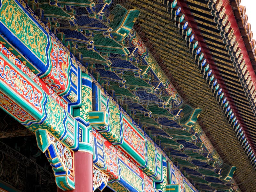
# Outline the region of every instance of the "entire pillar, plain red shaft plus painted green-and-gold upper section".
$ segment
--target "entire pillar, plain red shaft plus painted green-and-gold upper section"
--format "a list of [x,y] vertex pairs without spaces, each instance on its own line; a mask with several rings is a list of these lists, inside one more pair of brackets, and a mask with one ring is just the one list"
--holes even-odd
[[[82,73],[82,103],[74,109],[73,116],[79,124],[79,149],[74,154],[75,189],[72,192],[92,192],[92,126],[89,111],[92,111],[92,79]],[[63,191],[58,188],[58,192]]]

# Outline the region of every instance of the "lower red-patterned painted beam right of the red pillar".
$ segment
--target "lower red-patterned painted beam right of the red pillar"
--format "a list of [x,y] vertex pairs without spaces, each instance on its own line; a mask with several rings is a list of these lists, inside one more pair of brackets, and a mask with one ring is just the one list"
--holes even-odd
[[153,181],[95,129],[93,136],[93,163],[109,176],[108,187],[115,191],[155,191]]

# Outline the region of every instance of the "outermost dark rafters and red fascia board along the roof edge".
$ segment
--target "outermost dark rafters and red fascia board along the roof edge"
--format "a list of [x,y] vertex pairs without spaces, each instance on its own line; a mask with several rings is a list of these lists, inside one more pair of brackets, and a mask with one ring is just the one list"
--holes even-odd
[[[247,121],[246,119],[243,119],[244,117],[242,117],[243,115],[240,113],[244,112],[244,108],[240,108],[239,104],[236,101],[237,99],[242,99],[242,98],[243,98],[242,100],[245,100],[245,101],[249,100],[248,104],[245,105],[245,107],[248,109],[248,112],[245,112],[245,113],[247,113],[248,116],[252,116],[252,119],[250,119],[250,122],[252,122],[251,120],[254,119],[253,113],[255,114],[255,109],[254,109],[255,104],[253,101],[253,99],[254,99],[253,93],[254,93],[254,87],[255,87],[255,85],[254,85],[255,73],[252,68],[251,60],[253,60],[253,59],[255,60],[255,57],[252,57],[251,54],[248,54],[248,52],[252,51],[252,48],[254,48],[254,43],[253,43],[254,41],[252,40],[252,32],[250,31],[250,27],[248,28],[248,26],[247,26],[247,29],[246,29],[246,26],[245,26],[244,27],[245,31],[241,30],[242,34],[246,33],[246,36],[242,36],[240,33],[240,30],[238,30],[235,16],[232,14],[233,12],[232,12],[231,6],[229,5],[229,1],[221,1],[221,3],[220,3],[220,1],[217,1],[216,4],[212,3],[213,6],[216,6],[216,7],[219,5],[220,6],[219,6],[219,8],[216,8],[216,10],[212,9],[211,12],[208,12],[209,16],[212,15],[212,18],[213,18],[214,14],[216,14],[216,12],[223,13],[221,18],[214,17],[213,20],[211,20],[211,16],[209,18],[205,17],[205,14],[207,14],[206,10],[204,10],[204,15],[199,16],[198,10],[193,9],[193,7],[195,7],[195,4],[197,4],[197,3],[194,1],[191,1],[191,2],[181,1],[181,3],[180,3],[180,5],[183,6],[183,9],[186,13],[185,19],[190,21],[188,23],[188,25],[192,27],[192,31],[195,34],[195,39],[199,41],[198,44],[202,48],[201,52],[204,53],[204,58],[207,59],[207,62],[210,64],[210,68],[212,68],[212,74],[215,75],[215,78],[220,83],[220,87],[222,88],[222,91],[225,93],[225,96],[227,96],[229,105],[231,105],[231,108],[233,109],[234,114],[237,116],[239,123],[243,127],[242,130],[246,130],[245,135],[248,138],[249,143],[252,145],[248,148],[252,147],[253,151],[254,151],[255,150],[254,128],[249,122],[246,123],[246,121]],[[203,4],[203,3],[200,5],[202,7],[203,6],[209,7],[209,3],[207,5]],[[213,14],[212,11],[214,11],[215,13]],[[240,9],[239,9],[239,11],[240,11]],[[243,9],[243,11],[244,11],[244,9]],[[244,12],[242,14],[244,14]],[[239,13],[241,14],[241,12],[239,12]],[[204,22],[206,22],[206,23],[204,24]],[[215,25],[217,24],[217,26],[214,26],[214,24]],[[207,29],[206,26],[210,27],[210,28]],[[225,27],[226,31],[224,31],[222,29],[223,32],[221,32],[221,30],[220,30],[220,34],[217,34],[216,28],[217,29],[220,27],[223,28],[223,26]],[[247,34],[251,34],[251,35],[249,36]],[[232,40],[235,38],[235,40],[233,42],[234,46],[236,46],[236,48],[234,49],[234,53],[232,53],[233,50],[231,50],[231,51],[227,52],[226,53],[227,56],[225,56],[225,54],[223,54],[223,52],[221,53],[220,50],[218,50],[218,47],[216,45],[215,45],[215,48],[209,47],[210,44],[209,44],[209,42],[207,43],[207,40],[206,41],[204,40],[205,37],[206,37],[206,39],[207,39],[207,37],[212,37],[214,40],[217,39],[217,41],[218,41],[218,39],[223,41],[225,39]],[[249,40],[251,39],[250,42],[248,42],[248,38],[249,38]],[[219,46],[223,46],[223,45],[225,45],[224,42],[219,43]],[[226,49],[227,49],[227,47],[226,47]],[[228,51],[228,49],[227,49],[227,51]],[[233,76],[240,76],[241,80],[239,80],[239,78],[238,78],[239,81],[237,83],[241,84],[240,87],[242,87],[243,90],[241,90],[239,92],[240,93],[244,92],[243,93],[244,95],[243,94],[241,96],[234,95],[234,93],[237,94],[237,91],[239,90],[240,87],[236,86],[236,87],[230,88],[230,86],[232,87],[232,85],[229,82],[227,82],[228,78],[225,77],[226,71],[223,68],[225,65],[222,65],[222,66],[218,65],[218,62],[221,63],[221,60],[219,60],[219,58],[218,58],[218,54],[220,54],[220,53],[222,54],[222,56],[219,55],[219,58],[223,57],[222,59],[226,59],[226,58],[230,57],[229,59],[230,59],[231,63],[233,62],[234,67],[241,66],[241,69],[242,69],[245,65],[246,68],[244,70],[247,69],[245,72],[248,71],[248,75],[246,77],[243,75],[241,76],[240,75],[241,71],[239,71],[239,70],[233,69],[233,72],[232,72]],[[216,58],[216,54],[217,54],[217,58]],[[223,62],[226,62],[226,61],[223,61]],[[245,74],[245,72],[243,72],[243,73]],[[252,110],[250,110],[250,108],[252,108]],[[239,111],[241,111],[241,112],[239,112]],[[246,148],[245,148],[245,150],[246,150]],[[250,155],[254,156],[253,154],[250,154]],[[250,156],[248,156],[248,157],[251,158]],[[254,163],[255,163],[255,161],[252,162],[252,164],[254,164]]]

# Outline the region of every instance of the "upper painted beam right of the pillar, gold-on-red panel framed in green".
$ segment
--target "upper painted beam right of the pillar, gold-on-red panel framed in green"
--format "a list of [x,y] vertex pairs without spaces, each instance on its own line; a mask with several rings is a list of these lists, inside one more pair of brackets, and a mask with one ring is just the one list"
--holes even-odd
[[95,129],[149,177],[161,182],[162,154],[157,153],[155,143],[145,136],[146,133],[139,131],[140,128],[132,118],[94,79],[92,79],[92,92],[95,110],[107,111],[109,115],[108,126],[95,127]]

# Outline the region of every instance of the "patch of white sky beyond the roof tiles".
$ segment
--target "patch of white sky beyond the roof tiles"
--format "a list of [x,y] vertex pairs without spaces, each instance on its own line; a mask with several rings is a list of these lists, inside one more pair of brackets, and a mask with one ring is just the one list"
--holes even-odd
[[241,5],[246,7],[245,14],[248,15],[248,22],[251,23],[253,39],[256,39],[256,0],[241,0]]

